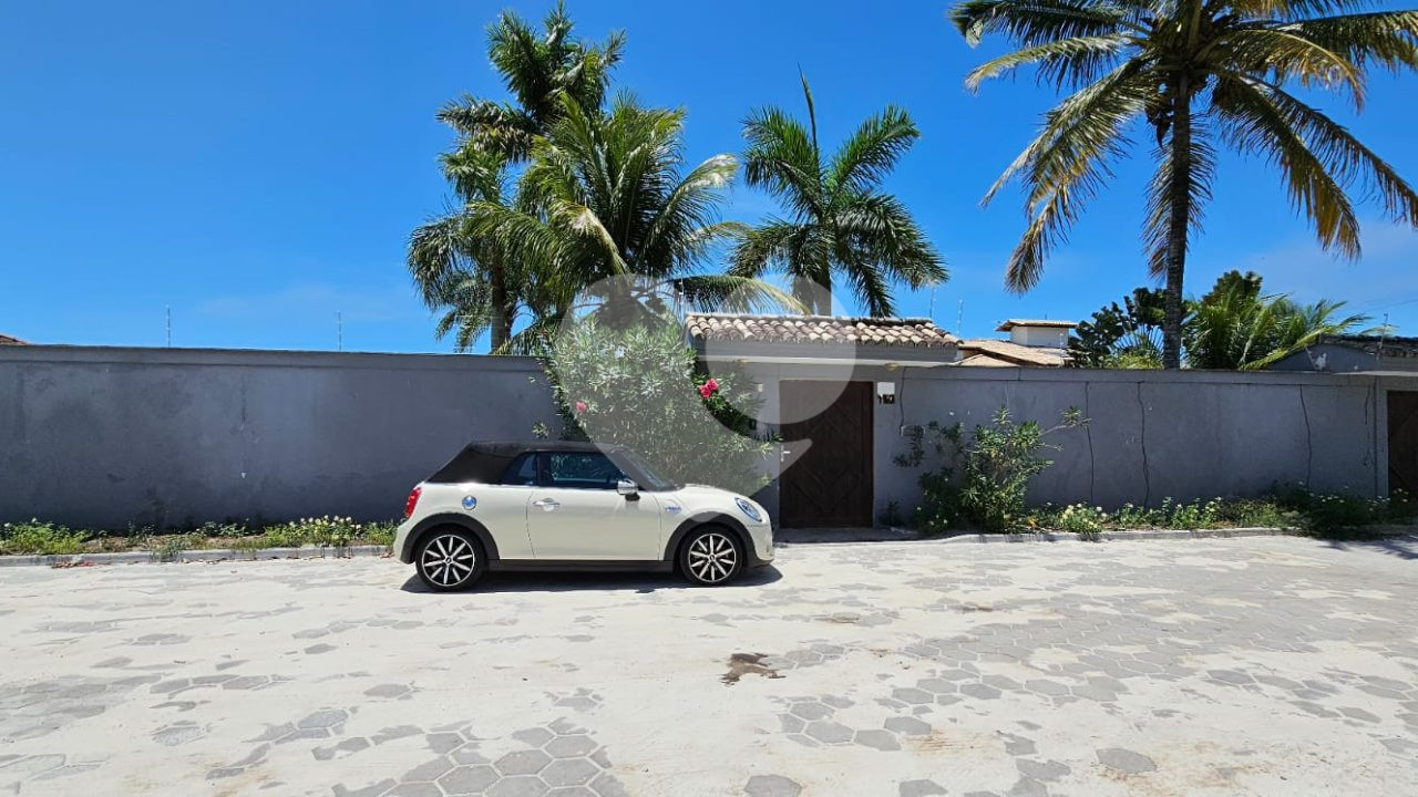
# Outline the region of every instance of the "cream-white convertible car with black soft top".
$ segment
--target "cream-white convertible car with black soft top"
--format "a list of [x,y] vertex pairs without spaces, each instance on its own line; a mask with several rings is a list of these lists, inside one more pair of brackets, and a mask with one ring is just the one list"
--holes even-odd
[[624,448],[474,442],[408,494],[394,552],[440,591],[503,569],[678,570],[716,586],[773,560],[773,526],[753,501],[674,484]]

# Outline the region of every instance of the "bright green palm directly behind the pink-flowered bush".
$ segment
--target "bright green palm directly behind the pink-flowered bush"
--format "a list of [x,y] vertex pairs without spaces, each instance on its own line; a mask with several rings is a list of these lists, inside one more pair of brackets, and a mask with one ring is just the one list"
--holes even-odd
[[795,306],[757,279],[703,272],[716,244],[742,233],[719,220],[737,165],[718,155],[682,173],[682,128],[683,111],[628,96],[603,111],[563,95],[532,145],[519,207],[468,203],[469,233],[537,275],[542,312],[513,347],[535,347],[587,289],[598,291],[593,303],[651,311],[666,289],[696,308]]

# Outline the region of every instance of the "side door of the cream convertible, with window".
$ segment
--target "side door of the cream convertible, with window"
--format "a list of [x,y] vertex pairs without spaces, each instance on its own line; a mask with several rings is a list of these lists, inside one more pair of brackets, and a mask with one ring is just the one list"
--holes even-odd
[[623,478],[598,451],[543,452],[542,485],[527,506],[537,560],[659,559],[659,501],[620,495]]

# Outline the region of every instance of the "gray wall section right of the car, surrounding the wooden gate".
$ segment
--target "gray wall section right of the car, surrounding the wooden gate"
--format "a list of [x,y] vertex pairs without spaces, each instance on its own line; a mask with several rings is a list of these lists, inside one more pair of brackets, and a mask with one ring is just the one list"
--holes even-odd
[[[747,364],[764,386],[764,417],[777,411],[778,381],[821,379],[804,364]],[[1157,505],[1255,496],[1278,482],[1385,495],[1387,390],[1418,379],[1370,374],[1106,372],[1083,369],[859,367],[834,379],[893,381],[896,403],[875,406],[876,516],[892,502],[909,513],[919,501],[920,468],[893,464],[909,450],[905,427],[960,421],[987,424],[1000,407],[1017,420],[1052,425],[1069,407],[1090,423],[1049,441],[1054,467],[1031,485],[1035,503]],[[761,424],[774,431],[771,423]],[[934,462],[927,462],[934,465]],[[776,512],[776,486],[759,496]]]

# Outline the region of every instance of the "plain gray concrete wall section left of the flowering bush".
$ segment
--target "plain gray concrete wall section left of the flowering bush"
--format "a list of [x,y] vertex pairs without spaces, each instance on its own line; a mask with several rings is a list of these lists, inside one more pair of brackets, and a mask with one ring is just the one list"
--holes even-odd
[[467,441],[537,421],[530,359],[7,346],[0,520],[390,519]]

